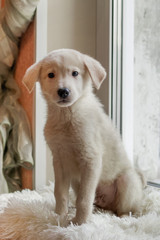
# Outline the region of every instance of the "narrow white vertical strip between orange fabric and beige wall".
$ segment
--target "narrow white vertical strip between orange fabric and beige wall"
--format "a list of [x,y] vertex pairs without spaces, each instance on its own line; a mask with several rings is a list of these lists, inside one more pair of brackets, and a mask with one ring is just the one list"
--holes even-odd
[[[47,54],[47,1],[41,0],[36,12],[36,62]],[[37,82],[34,90],[34,188],[46,184],[47,146],[43,135],[46,105]]]

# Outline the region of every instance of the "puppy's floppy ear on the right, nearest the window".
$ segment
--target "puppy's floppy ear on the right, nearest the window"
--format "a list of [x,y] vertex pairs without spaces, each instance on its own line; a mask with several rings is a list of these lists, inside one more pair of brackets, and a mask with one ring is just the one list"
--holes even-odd
[[84,63],[96,89],[99,89],[107,73],[102,65],[92,57],[84,55]]

